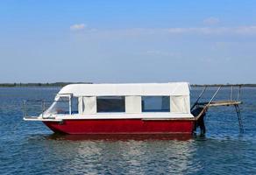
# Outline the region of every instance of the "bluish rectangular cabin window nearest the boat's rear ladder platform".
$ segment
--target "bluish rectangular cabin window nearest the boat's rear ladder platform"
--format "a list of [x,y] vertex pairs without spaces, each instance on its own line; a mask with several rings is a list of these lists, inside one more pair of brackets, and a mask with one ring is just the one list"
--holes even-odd
[[169,96],[142,96],[142,112],[170,112]]

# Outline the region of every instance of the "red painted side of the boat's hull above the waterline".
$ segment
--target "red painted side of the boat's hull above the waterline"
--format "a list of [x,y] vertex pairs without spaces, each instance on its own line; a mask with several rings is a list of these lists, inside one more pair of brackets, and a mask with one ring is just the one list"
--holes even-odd
[[188,134],[194,129],[191,120],[81,119],[44,123],[53,132],[66,134]]

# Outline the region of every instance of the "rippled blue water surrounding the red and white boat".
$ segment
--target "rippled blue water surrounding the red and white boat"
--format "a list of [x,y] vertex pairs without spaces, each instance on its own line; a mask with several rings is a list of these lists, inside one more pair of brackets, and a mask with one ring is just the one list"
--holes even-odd
[[[209,110],[205,137],[169,138],[56,136],[22,120],[23,100],[53,100],[59,90],[0,88],[0,174],[256,174],[256,88],[242,91],[244,134],[230,107]],[[226,88],[217,98],[229,96]]]

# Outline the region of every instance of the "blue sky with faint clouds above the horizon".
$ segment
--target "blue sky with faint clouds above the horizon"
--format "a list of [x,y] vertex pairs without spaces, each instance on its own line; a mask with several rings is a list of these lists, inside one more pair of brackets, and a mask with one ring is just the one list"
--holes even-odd
[[0,83],[256,83],[256,1],[0,1]]

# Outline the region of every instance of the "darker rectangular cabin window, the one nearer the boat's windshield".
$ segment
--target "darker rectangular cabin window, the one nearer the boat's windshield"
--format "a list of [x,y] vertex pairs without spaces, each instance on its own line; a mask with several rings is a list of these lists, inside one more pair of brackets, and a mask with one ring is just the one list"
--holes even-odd
[[97,96],[97,112],[125,112],[124,96]]

